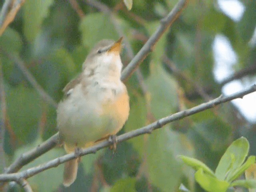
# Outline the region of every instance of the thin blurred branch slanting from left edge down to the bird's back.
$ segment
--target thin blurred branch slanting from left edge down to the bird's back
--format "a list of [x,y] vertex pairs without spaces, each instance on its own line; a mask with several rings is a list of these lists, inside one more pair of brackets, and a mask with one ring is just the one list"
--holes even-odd
[[52,106],[54,106],[54,108],[57,108],[58,104],[48,93],[44,91],[42,86],[38,84],[34,76],[29,72],[28,68],[26,68],[25,63],[18,56],[14,56],[13,54],[9,54],[3,50],[1,51],[4,52],[6,56],[8,56],[8,58],[10,58],[10,60],[12,60],[20,68],[24,76],[26,76],[27,80],[36,89],[36,91],[42,97],[42,99],[51,104]]

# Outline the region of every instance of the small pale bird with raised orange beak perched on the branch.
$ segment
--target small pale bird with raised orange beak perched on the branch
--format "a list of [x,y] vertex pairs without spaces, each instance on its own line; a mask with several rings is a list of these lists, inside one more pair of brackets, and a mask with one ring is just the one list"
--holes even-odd
[[[82,64],[82,72],[63,89],[57,108],[57,127],[69,154],[114,136],[129,116],[129,96],[121,81],[122,37],[101,40]],[[63,185],[75,180],[79,158],[65,163]]]

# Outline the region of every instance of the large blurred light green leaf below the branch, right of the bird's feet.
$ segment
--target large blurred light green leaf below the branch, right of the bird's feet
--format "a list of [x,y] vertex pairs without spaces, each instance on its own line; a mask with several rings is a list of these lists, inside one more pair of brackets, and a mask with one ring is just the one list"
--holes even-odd
[[149,180],[162,191],[176,192],[182,177],[181,164],[176,154],[184,153],[186,143],[181,134],[169,128],[154,131],[148,138],[146,163]]

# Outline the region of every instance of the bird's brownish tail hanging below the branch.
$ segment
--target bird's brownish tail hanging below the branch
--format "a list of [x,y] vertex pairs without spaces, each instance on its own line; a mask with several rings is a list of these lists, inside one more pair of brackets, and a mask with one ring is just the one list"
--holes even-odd
[[78,169],[78,159],[73,159],[65,163],[63,174],[63,185],[65,187],[70,186],[76,180],[76,174]]

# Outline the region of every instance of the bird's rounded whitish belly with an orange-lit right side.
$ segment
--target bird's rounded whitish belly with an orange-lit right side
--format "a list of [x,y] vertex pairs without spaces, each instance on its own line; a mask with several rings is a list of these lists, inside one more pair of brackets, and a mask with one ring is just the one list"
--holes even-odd
[[126,94],[121,94],[114,101],[99,104],[74,96],[61,102],[57,121],[66,151],[91,146],[101,138],[116,134],[128,118],[128,99]]

